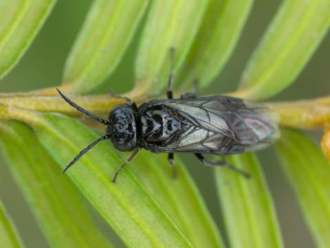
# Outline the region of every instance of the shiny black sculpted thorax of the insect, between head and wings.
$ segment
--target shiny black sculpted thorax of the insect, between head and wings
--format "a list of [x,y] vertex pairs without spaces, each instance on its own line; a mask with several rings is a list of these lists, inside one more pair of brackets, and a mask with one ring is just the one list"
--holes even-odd
[[185,124],[165,110],[147,110],[140,116],[141,135],[146,142],[165,142]]

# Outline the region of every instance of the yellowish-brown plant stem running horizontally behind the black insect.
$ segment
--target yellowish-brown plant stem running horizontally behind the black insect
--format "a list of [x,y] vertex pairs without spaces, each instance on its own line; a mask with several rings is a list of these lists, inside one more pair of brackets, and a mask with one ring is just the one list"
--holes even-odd
[[[64,92],[65,89],[61,88]],[[28,93],[4,93],[0,94],[0,119],[10,119],[17,115],[19,109],[58,112],[72,117],[80,117],[83,114],[69,106],[58,95],[54,88],[42,89]],[[57,94],[57,93],[56,93]],[[232,93],[230,95],[235,95]],[[107,116],[110,109],[125,101],[110,94],[103,95],[67,95],[78,105],[100,116]],[[143,98],[142,91],[131,91],[124,94],[140,104]],[[268,102],[267,106],[280,115],[280,125],[294,128],[325,128],[330,124],[330,96],[315,100],[300,100],[294,102]],[[13,112],[14,111],[14,112]],[[17,119],[17,117],[14,117]]]

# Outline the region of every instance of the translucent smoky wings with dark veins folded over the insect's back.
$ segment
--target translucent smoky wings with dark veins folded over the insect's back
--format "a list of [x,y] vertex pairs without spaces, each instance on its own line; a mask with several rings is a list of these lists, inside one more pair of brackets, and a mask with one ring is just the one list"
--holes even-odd
[[151,101],[184,123],[153,152],[228,155],[263,148],[278,137],[277,119],[267,107],[225,96]]

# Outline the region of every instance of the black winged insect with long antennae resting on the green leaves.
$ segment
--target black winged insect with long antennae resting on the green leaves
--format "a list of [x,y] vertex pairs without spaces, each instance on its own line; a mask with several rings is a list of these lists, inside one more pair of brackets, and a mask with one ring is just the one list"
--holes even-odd
[[69,100],[59,89],[58,93],[71,106],[107,126],[106,135],[89,144],[65,167],[63,173],[100,141],[110,139],[120,151],[132,151],[112,179],[142,149],[153,153],[168,153],[173,166],[174,153],[193,153],[207,166],[226,166],[245,177],[247,172],[239,170],[224,159],[211,161],[203,154],[232,155],[264,148],[278,137],[276,116],[267,107],[228,96],[197,98],[196,93],[186,93],[173,99],[173,60],[171,49],[171,71],[168,77],[167,98],[151,100],[141,106],[127,100],[111,109],[108,120],[90,113]]

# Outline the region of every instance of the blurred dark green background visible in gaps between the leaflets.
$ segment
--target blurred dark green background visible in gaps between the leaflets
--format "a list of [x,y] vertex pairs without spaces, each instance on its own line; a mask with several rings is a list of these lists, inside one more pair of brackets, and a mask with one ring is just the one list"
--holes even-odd
[[[80,0],[79,5],[77,5],[76,1],[59,0],[50,18],[46,21],[43,29],[28,49],[28,52],[23,56],[19,65],[2,80],[0,91],[28,91],[58,85],[61,82],[66,56],[74,43],[74,38],[83,23],[91,2],[90,0]],[[281,1],[278,0],[256,0],[254,2],[248,23],[229,63],[211,87],[203,90],[200,94],[223,93],[236,89],[241,71],[280,3]],[[104,93],[107,88],[111,88],[116,93],[121,93],[133,87],[133,66],[140,30],[135,35],[133,43],[126,51],[114,74],[107,79],[102,89],[98,89],[98,92]],[[330,35],[328,34],[296,82],[283,93],[277,95],[274,100],[298,100],[329,95],[329,58]],[[311,136],[318,142],[320,132],[313,132]],[[195,166],[195,163],[194,166],[189,166],[190,161],[192,161],[190,156],[184,155],[181,157],[186,160],[188,169],[205,196],[212,216],[221,227],[221,212],[214,188],[212,168]],[[262,151],[260,158],[276,205],[285,246],[314,247],[314,242],[303,221],[292,189],[285,181],[278,161],[272,153],[272,148]],[[17,185],[10,177],[3,159],[1,157],[0,159],[0,198],[17,225],[26,247],[49,247],[28,210],[28,205],[23,200],[21,192],[19,192]],[[91,209],[91,211],[94,210]],[[99,218],[98,214],[94,215],[98,223],[102,225],[104,233],[118,242],[107,224]]]

